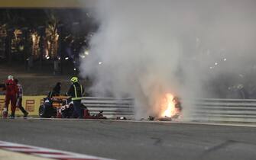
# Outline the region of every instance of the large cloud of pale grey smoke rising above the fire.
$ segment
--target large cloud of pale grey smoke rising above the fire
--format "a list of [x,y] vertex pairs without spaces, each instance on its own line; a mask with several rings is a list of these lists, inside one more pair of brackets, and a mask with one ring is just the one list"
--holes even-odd
[[205,83],[242,72],[255,58],[255,4],[99,1],[99,30],[82,59],[81,75],[94,79],[95,95],[135,98],[138,118],[157,114],[157,100],[166,92],[183,99],[211,95]]

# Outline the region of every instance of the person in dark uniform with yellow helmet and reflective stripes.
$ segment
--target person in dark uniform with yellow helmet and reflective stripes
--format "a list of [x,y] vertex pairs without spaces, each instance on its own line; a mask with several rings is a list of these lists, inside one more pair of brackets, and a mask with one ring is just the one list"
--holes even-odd
[[67,94],[71,96],[73,101],[73,106],[74,106],[73,116],[77,114],[79,118],[83,118],[83,110],[81,110],[81,100],[84,92],[83,85],[79,84],[77,77],[71,78],[70,82],[72,83],[72,85],[70,85],[70,89],[67,92]]

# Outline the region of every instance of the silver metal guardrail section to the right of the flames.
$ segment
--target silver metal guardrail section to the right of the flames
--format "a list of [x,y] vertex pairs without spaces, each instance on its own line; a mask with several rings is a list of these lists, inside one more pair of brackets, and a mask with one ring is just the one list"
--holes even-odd
[[191,104],[191,121],[256,123],[254,99],[197,99],[186,104]]

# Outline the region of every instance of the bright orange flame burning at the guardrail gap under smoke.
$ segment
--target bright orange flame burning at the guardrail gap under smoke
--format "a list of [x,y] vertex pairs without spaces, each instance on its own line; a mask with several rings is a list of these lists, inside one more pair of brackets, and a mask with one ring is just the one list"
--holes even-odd
[[164,108],[164,112],[161,114],[161,117],[173,117],[176,113],[175,104],[173,102],[173,94],[166,94],[163,99],[162,108]]

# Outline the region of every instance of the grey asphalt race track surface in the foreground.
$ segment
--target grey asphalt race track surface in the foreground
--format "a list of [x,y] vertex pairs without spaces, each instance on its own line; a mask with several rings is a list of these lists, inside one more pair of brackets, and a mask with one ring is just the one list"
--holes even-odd
[[115,159],[255,159],[256,127],[0,120],[0,140]]

